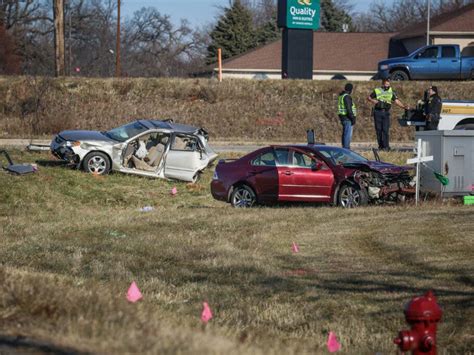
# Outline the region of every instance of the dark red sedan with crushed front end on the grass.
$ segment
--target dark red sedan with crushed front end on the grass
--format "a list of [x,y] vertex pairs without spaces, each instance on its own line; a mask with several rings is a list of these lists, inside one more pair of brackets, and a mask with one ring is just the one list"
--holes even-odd
[[299,201],[353,208],[398,202],[413,194],[412,169],[339,147],[269,146],[238,160],[220,160],[211,192],[235,207]]

